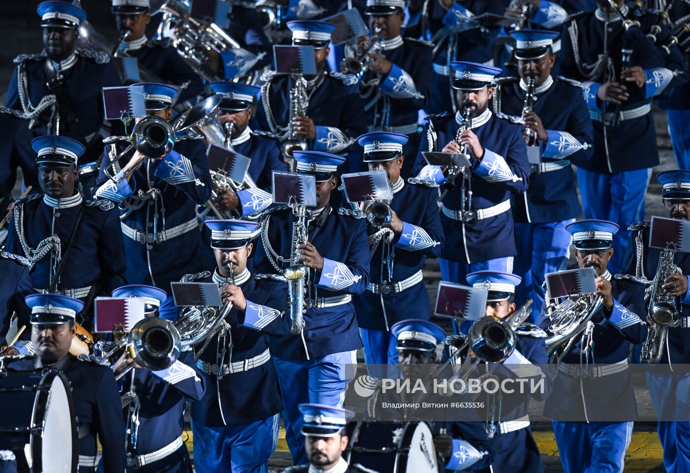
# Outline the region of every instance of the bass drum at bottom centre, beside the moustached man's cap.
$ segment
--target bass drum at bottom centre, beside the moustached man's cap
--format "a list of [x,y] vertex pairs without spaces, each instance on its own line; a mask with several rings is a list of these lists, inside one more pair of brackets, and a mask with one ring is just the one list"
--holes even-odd
[[439,473],[435,427],[426,422],[357,422],[348,425],[344,458],[381,473]]

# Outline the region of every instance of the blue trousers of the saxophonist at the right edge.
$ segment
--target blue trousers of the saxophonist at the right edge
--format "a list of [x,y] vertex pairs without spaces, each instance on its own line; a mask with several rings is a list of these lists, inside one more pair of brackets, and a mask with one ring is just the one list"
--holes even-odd
[[657,427],[664,467],[668,473],[690,472],[690,374],[647,373],[647,385],[658,416],[667,419]]

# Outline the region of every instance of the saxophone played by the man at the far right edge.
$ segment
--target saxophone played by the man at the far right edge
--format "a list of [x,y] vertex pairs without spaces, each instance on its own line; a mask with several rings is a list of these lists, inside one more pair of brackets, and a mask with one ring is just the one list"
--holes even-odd
[[640,363],[655,365],[664,355],[664,347],[669,334],[669,327],[678,325],[680,310],[676,297],[667,294],[662,285],[671,274],[682,274],[682,270],[673,262],[676,255],[676,246],[669,243],[659,256],[659,265],[654,274],[654,279],[647,279],[642,270],[644,258],[642,232],[649,228],[649,222],[633,223],[628,229],[635,232],[636,266],[635,276],[631,274],[616,274],[615,279],[623,279],[633,283],[647,284],[644,290],[644,299],[647,301],[647,315],[653,324],[647,328],[647,339],[642,344]]

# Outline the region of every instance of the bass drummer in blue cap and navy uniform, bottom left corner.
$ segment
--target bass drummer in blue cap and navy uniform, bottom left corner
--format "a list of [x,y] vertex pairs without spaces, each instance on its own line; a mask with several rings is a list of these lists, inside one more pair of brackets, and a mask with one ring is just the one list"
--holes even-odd
[[[83,309],[83,303],[59,294],[30,294],[26,296],[26,304],[31,309],[31,341],[36,353],[9,361],[8,372],[61,370],[72,385],[79,419],[79,473],[96,471],[97,436],[103,450],[103,473],[124,472],[125,425],[115,376],[103,359],[69,354],[77,332],[75,317]],[[14,454],[17,470],[28,472],[24,453]]]

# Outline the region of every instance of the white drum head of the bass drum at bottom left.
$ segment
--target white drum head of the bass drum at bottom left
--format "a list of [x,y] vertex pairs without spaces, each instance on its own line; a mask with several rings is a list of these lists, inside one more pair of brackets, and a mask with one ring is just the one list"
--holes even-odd
[[44,427],[42,435],[31,436],[32,473],[77,472],[77,421],[70,383],[64,374],[49,371],[41,388],[32,424]]

